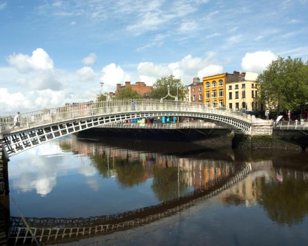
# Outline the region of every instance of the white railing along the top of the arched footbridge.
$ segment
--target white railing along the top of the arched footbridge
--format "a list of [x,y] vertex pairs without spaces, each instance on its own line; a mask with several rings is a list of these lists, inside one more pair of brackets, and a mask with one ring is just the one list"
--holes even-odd
[[0,117],[0,133],[10,133],[65,122],[73,119],[89,118],[94,115],[108,115],[113,113],[129,113],[142,111],[169,111],[224,114],[225,116],[249,121],[249,115],[228,108],[208,108],[202,103],[155,100],[155,99],[129,99],[97,101],[66,105],[63,107],[42,109],[26,112],[19,115]]

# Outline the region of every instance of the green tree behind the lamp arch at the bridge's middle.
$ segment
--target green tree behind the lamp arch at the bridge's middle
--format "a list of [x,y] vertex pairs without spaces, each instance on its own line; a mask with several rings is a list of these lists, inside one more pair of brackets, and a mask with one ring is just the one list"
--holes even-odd
[[[169,75],[167,77],[162,77],[156,80],[153,85],[153,90],[150,92],[150,97],[155,99],[160,99],[168,94],[167,86],[170,86],[170,94],[172,96],[177,95],[178,86],[178,98],[183,100],[186,96],[186,88],[182,84],[180,78],[175,78],[174,75]],[[166,99],[174,99],[172,97],[167,97]]]

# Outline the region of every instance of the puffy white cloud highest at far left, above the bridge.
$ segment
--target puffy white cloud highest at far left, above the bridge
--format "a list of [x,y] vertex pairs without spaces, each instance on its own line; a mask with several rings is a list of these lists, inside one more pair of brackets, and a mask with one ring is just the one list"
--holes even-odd
[[32,56],[14,53],[13,55],[9,55],[7,61],[20,72],[53,69],[52,59],[47,52],[41,48],[34,50]]

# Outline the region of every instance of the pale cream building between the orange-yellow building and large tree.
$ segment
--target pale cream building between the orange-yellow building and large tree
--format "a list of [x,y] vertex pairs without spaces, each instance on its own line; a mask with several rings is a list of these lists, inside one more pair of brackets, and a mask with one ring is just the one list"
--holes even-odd
[[226,107],[233,110],[262,111],[258,103],[257,73],[239,74],[237,81],[226,81]]

